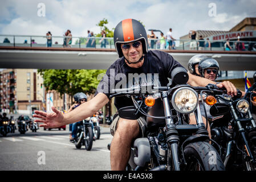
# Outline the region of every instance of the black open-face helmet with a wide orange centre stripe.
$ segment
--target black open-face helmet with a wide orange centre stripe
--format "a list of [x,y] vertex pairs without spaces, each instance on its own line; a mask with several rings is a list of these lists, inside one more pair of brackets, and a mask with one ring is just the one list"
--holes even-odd
[[142,40],[143,53],[148,52],[147,32],[139,21],[135,19],[124,19],[119,22],[114,31],[114,44],[119,57],[124,56],[121,50],[121,43],[130,43]]

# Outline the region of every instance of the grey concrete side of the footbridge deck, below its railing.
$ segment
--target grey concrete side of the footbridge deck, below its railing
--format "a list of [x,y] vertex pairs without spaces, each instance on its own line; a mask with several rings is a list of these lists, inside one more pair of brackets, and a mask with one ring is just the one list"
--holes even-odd
[[[213,57],[223,71],[256,70],[256,52],[166,51],[185,68],[188,60],[202,54]],[[118,59],[115,49],[22,49],[0,48],[0,68],[107,69]]]

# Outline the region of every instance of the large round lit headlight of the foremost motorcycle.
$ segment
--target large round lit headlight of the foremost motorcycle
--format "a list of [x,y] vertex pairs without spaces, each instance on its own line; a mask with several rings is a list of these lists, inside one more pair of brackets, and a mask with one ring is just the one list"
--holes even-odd
[[189,87],[182,87],[172,95],[172,105],[174,109],[183,114],[192,113],[198,105],[198,96],[196,91]]

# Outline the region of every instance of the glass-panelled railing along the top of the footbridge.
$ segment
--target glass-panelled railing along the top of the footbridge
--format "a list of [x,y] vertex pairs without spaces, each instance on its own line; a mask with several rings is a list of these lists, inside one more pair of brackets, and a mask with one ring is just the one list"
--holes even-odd
[[[238,41],[230,40],[230,51],[256,51],[256,42],[239,41],[242,43],[238,49]],[[177,49],[177,50],[207,50],[229,51],[226,49],[226,40],[173,40],[148,39],[149,49]],[[210,46],[209,46],[210,45]],[[68,36],[30,36],[30,35],[0,35],[0,47],[71,47],[71,48],[108,48],[115,49],[113,38],[100,37],[68,37]]]

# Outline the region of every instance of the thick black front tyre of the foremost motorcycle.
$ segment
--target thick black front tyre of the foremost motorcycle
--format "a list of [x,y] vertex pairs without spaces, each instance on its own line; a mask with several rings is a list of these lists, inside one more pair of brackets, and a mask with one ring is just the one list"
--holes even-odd
[[184,148],[185,171],[225,171],[220,155],[207,142],[189,143]]

